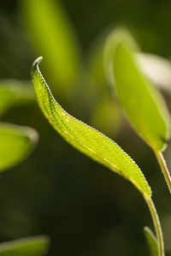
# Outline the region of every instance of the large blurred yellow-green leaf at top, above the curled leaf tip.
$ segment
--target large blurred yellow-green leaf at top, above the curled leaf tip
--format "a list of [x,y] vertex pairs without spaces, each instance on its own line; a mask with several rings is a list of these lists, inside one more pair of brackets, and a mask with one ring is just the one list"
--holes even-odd
[[33,45],[57,82],[56,89],[72,90],[80,68],[80,47],[60,1],[21,0],[21,11]]

